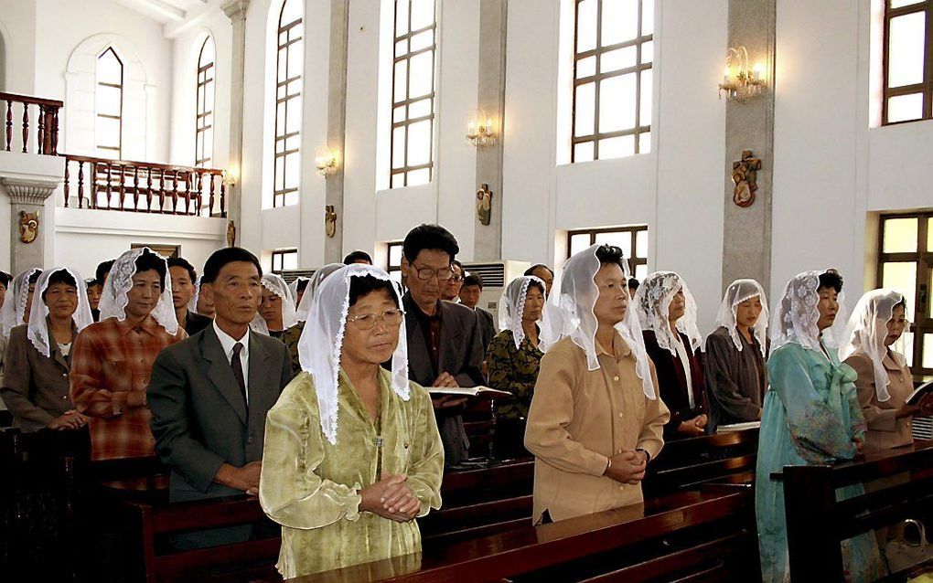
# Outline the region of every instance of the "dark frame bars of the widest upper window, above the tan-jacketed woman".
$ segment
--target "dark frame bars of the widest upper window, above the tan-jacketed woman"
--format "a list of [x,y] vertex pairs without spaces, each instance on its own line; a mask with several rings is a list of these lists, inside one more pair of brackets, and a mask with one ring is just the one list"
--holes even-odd
[[[601,160],[599,157],[599,144],[601,141],[611,138],[624,137],[627,135],[634,136],[634,153],[636,156],[638,154],[647,153],[641,152],[641,144],[639,138],[642,134],[651,135],[651,120],[648,119],[648,124],[642,124],[643,121],[641,118],[641,96],[642,96],[642,73],[644,71],[652,71],[652,79],[654,78],[654,57],[652,56],[651,62],[644,63],[642,62],[642,49],[645,43],[654,42],[654,32],[649,35],[642,34],[642,25],[644,22],[643,14],[645,10],[645,0],[637,0],[638,2],[638,24],[636,29],[636,34],[634,39],[626,40],[620,43],[615,43],[612,45],[602,46],[602,36],[603,36],[603,1],[604,0],[591,0],[596,2],[596,46],[593,49],[578,51],[578,35],[579,35],[579,6],[580,3],[584,0],[574,0],[574,36],[573,36],[573,77],[572,77],[572,87],[571,87],[571,97],[570,97],[570,163],[576,163],[577,161],[596,161]],[[606,52],[610,52],[618,49],[625,49],[627,47],[635,47],[635,64],[631,67],[625,67],[623,69],[615,69],[608,71],[606,73],[600,73],[600,61],[602,60],[603,55]],[[588,59],[590,57],[595,58],[594,73],[592,76],[585,76],[578,78],[578,62]],[[634,128],[629,130],[618,130],[614,132],[600,132],[599,131],[599,97],[600,97],[600,87],[604,80],[610,79],[617,76],[632,75],[635,76],[635,125]],[[593,113],[592,113],[592,129],[593,132],[590,134],[578,136],[577,135],[577,89],[582,85],[587,85],[593,83]],[[651,98],[654,98],[653,87],[648,88],[652,92]],[[649,137],[650,139],[650,137]],[[577,160],[577,146],[578,144],[587,144],[592,142],[592,160]],[[648,150],[650,151],[650,149]],[[615,158],[627,158],[624,157],[612,157],[609,159],[602,160],[613,160]]]

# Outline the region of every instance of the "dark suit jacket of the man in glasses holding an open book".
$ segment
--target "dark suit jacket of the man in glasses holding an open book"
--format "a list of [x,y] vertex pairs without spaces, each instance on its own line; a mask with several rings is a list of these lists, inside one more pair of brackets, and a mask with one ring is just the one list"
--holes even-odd
[[[473,310],[449,301],[439,302],[440,341],[438,372],[431,366],[431,356],[425,343],[417,310],[411,294],[402,297],[405,307],[405,328],[409,349],[409,379],[430,386],[441,372],[450,373],[460,386],[477,386],[486,382],[482,376],[482,333],[480,320]],[[444,460],[457,464],[468,457],[462,409],[437,409],[440,438],[444,443]]]

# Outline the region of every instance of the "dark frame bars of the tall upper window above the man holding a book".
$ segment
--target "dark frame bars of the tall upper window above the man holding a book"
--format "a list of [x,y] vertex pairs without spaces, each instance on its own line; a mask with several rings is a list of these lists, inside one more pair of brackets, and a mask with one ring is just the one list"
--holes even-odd
[[[397,22],[398,22],[398,3],[406,2],[408,3],[408,27],[407,31],[403,35],[398,35]],[[437,71],[435,70],[438,62],[438,3],[435,0],[431,0],[431,6],[434,10],[434,18],[431,21],[431,24],[418,30],[411,30],[411,0],[393,0],[392,2],[392,80],[390,87],[390,108],[389,108],[389,188],[401,188],[409,186],[409,174],[417,172],[419,170],[427,170],[427,183],[430,183],[434,180],[434,130],[435,130],[435,118],[437,113]],[[432,33],[432,42],[429,46],[422,49],[411,50],[411,38],[417,35],[421,35],[431,31]],[[402,53],[401,55],[396,55],[396,46],[399,42],[407,42],[408,51]],[[425,52],[431,53],[431,90],[424,95],[417,95],[414,99],[411,97],[411,59],[424,54]],[[396,101],[396,66],[398,62],[408,61],[408,66],[405,68],[405,99],[401,101]],[[409,111],[410,106],[413,103],[421,102],[424,100],[430,100],[431,108],[429,113],[426,116],[421,116],[419,118],[410,118]],[[395,112],[399,107],[405,108],[405,115],[400,121],[395,120]],[[414,164],[410,165],[408,163],[408,146],[409,146],[409,129],[412,125],[416,123],[421,123],[423,121],[430,122],[430,132],[429,132],[429,141],[428,141],[428,153],[427,153],[427,162],[423,164]],[[403,149],[403,163],[402,165],[396,167],[396,130],[398,128],[405,129],[405,147]],[[401,175],[401,184],[394,185],[394,178],[400,174]]]

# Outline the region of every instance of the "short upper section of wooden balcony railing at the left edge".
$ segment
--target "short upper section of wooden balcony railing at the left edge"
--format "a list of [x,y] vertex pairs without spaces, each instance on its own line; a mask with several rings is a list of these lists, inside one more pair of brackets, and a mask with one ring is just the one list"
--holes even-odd
[[[17,137],[22,136],[22,153],[28,154],[30,152],[29,146],[32,140],[30,140],[29,122],[30,119],[33,119],[38,130],[35,132],[35,154],[58,155],[58,118],[59,110],[63,107],[62,102],[0,92],[0,103],[3,104],[0,112],[3,113],[6,119],[3,148],[7,152],[19,151],[20,146],[14,146],[13,144],[14,134]],[[18,106],[14,108],[13,104]],[[15,116],[14,109],[16,110]],[[19,110],[22,111],[22,115],[20,115]],[[30,111],[33,112],[32,117]],[[16,128],[16,132],[14,132],[14,123],[17,122],[20,123],[21,127]]]

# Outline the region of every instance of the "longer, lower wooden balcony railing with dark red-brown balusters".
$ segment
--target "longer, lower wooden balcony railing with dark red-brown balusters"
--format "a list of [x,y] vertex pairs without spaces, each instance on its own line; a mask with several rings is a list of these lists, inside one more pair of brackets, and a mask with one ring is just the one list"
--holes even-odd
[[[157,215],[227,216],[224,171],[65,154],[64,206]],[[77,204],[71,200],[77,198]]]

